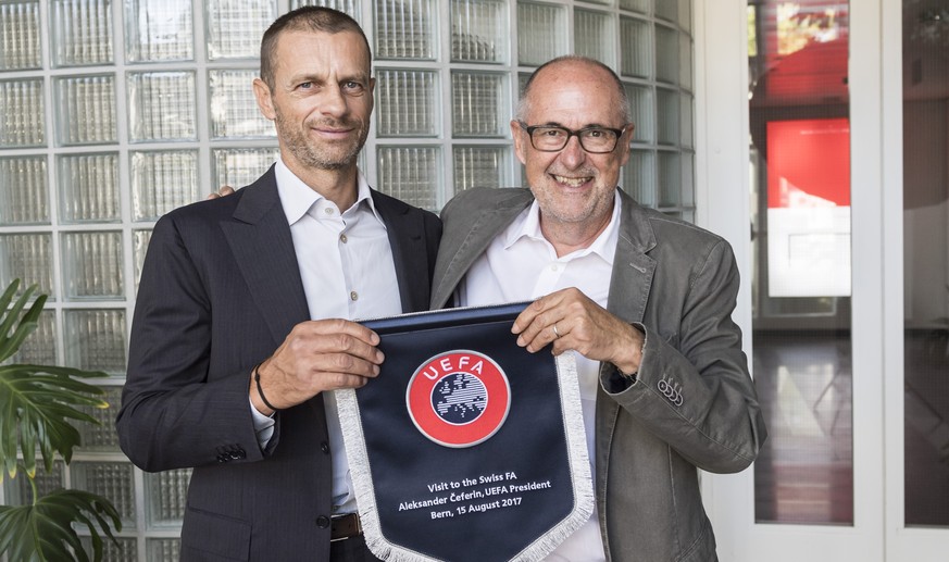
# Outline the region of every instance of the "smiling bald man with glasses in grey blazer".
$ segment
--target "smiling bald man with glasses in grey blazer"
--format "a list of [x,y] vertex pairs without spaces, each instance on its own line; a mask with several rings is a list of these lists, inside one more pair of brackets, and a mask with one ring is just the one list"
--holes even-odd
[[633,128],[609,67],[550,61],[511,122],[529,189],[441,213],[433,309],[533,300],[519,345],[576,351],[597,509],[549,560],[715,560],[698,469],[741,471],[765,438],[732,249],[617,189]]

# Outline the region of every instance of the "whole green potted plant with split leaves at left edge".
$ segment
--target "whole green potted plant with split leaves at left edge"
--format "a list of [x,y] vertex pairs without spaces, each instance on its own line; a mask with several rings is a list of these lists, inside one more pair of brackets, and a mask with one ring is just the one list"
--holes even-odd
[[[68,464],[79,445],[79,432],[73,424],[99,423],[77,407],[108,408],[98,398],[103,390],[80,379],[107,374],[65,366],[2,364],[36,329],[47,299],[46,295],[37,296],[24,312],[37,289],[33,285],[16,298],[18,287],[20,279],[14,279],[0,297],[0,462],[10,478],[25,475],[29,479],[33,501],[0,505],[0,554],[17,561],[88,561],[75,529],[75,525],[85,525],[92,558],[98,561],[102,559],[102,535],[115,542],[112,530],[122,529],[112,503],[75,489],[60,488],[38,496],[34,478],[37,449],[47,472],[52,471],[57,453]],[[2,477],[0,473],[0,482]]]

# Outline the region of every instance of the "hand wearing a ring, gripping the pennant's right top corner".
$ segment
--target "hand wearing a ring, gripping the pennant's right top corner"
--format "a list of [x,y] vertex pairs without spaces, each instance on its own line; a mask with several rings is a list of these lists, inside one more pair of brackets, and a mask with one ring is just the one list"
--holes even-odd
[[576,288],[551,292],[532,302],[514,320],[517,345],[535,353],[553,342],[553,354],[567,349],[607,361],[624,374],[639,371],[645,335]]

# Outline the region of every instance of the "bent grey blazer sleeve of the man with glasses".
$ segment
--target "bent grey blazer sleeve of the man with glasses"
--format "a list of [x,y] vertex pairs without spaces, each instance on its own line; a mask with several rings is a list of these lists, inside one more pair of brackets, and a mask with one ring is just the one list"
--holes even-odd
[[[637,379],[626,385],[604,365],[608,394],[629,414],[698,467],[715,473],[746,469],[766,438],[754,383],[733,322],[738,268],[725,240],[696,260],[684,295],[653,287]],[[654,301],[653,301],[654,299]],[[675,300],[675,302],[673,302]],[[662,320],[679,321],[658,329]],[[666,322],[674,322],[666,320]]]

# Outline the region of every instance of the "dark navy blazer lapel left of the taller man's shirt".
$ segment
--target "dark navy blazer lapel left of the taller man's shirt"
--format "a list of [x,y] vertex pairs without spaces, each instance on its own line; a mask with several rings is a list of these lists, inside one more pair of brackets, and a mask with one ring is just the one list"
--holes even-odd
[[310,320],[310,311],[273,167],[242,191],[234,220],[222,222],[221,228],[274,341],[280,344],[295,325]]

